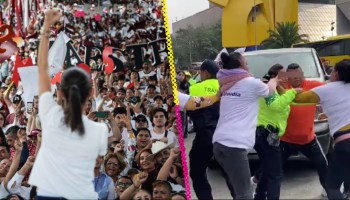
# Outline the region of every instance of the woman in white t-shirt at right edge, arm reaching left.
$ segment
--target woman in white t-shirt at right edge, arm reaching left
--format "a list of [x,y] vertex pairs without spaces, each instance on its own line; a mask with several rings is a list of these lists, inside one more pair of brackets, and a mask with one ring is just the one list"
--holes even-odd
[[350,60],[335,65],[330,83],[297,95],[295,101],[321,104],[327,115],[334,151],[325,188],[329,199],[346,199],[340,186],[350,181]]

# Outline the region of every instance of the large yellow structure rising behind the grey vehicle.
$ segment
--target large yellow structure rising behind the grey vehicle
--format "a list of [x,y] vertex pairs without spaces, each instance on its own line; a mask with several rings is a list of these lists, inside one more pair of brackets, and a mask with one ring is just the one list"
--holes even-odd
[[[259,45],[277,22],[298,21],[298,0],[209,0],[223,8],[224,47]],[[254,4],[255,3],[255,4]],[[253,22],[254,5],[258,12]],[[256,33],[256,34],[255,34]]]

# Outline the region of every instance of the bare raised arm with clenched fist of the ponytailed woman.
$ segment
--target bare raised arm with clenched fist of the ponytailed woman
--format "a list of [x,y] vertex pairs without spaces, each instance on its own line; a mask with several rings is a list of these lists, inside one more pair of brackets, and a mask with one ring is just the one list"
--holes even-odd
[[38,53],[39,95],[51,91],[48,62],[50,27],[54,25],[60,17],[61,13],[56,9],[48,10],[45,13],[45,21],[41,32]]

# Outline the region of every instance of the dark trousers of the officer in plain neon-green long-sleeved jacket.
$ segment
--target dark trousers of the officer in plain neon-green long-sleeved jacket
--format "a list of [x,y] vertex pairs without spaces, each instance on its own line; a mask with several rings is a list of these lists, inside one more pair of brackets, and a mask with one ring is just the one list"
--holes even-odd
[[279,199],[283,177],[282,156],[279,146],[271,146],[267,142],[269,132],[263,128],[256,129],[254,149],[261,162],[260,176],[254,199]]

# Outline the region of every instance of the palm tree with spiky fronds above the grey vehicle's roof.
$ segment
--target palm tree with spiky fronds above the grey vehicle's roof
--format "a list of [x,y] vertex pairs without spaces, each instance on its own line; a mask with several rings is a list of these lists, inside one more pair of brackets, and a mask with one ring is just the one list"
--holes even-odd
[[293,44],[307,42],[308,35],[299,34],[300,27],[296,22],[278,22],[276,30],[268,30],[269,38],[262,41],[265,49],[290,48]]

